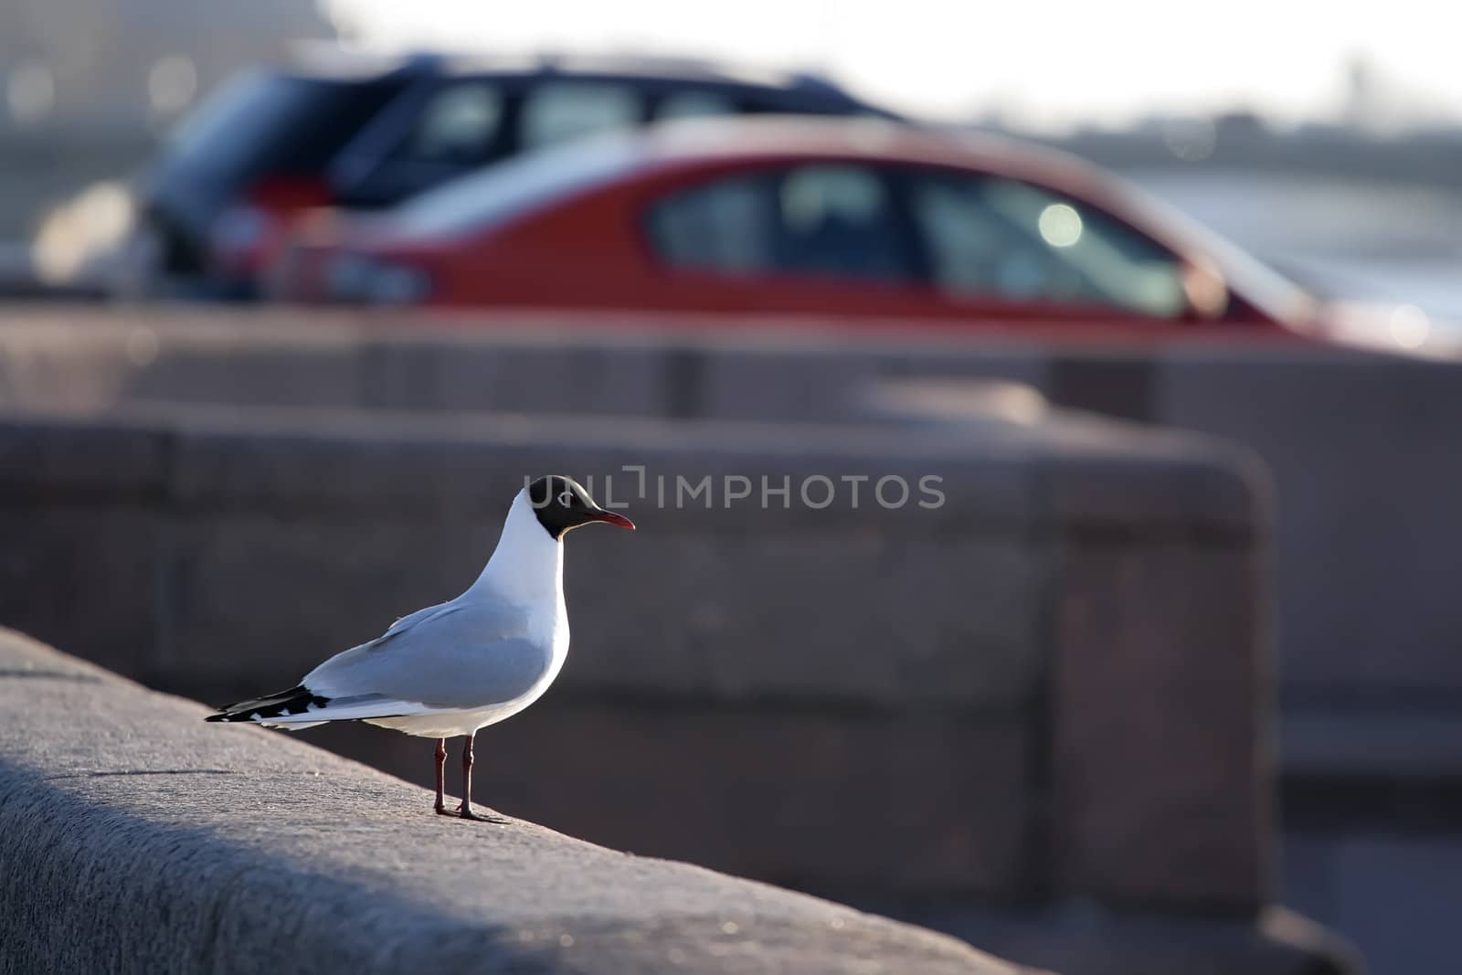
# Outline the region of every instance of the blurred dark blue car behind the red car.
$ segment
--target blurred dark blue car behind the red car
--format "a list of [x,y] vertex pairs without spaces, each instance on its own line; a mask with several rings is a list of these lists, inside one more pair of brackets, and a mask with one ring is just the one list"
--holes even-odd
[[288,221],[382,208],[566,139],[680,115],[879,115],[811,76],[655,58],[322,58],[234,79],[139,187],[155,287],[247,297]]

